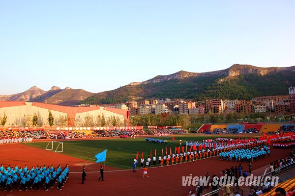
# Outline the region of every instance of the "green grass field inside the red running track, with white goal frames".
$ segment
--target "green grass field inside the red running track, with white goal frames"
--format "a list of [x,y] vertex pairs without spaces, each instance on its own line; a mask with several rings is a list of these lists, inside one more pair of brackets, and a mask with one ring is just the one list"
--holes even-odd
[[[182,145],[185,145],[185,141],[203,141],[204,139],[216,137],[227,137],[227,135],[178,135],[175,136],[173,146],[171,145],[172,137],[168,137],[167,145],[148,143],[145,141],[145,138],[63,141],[62,153],[95,162],[94,155],[107,149],[106,165],[120,169],[130,169],[132,168],[133,158],[136,156],[137,150],[139,151],[139,159],[141,158],[141,153],[144,152],[145,160],[147,160],[150,150],[152,151],[152,156],[154,149],[157,149],[157,155],[161,153],[162,148],[165,154],[165,147],[167,147],[168,153],[170,147],[174,152],[175,147],[179,146],[179,140],[182,140]],[[157,137],[157,139],[166,140],[166,137]],[[47,144],[48,142],[34,142],[24,145],[45,149]]]

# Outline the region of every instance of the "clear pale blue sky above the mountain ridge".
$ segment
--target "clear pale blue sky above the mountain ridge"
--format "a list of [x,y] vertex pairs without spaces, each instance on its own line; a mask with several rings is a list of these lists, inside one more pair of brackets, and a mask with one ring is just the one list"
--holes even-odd
[[0,95],[295,65],[294,0],[0,0]]

